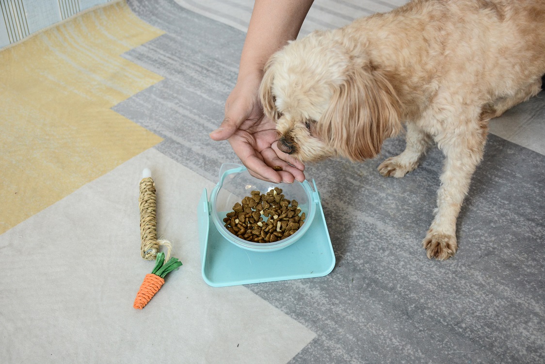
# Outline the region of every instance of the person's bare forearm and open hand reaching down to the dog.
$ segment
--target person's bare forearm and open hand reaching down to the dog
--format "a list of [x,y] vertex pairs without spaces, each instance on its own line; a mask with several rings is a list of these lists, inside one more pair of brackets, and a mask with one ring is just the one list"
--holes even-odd
[[[225,117],[210,133],[214,140],[229,140],[250,174],[265,181],[305,180],[305,165],[275,150],[275,122],[263,115],[259,82],[272,53],[295,39],[312,0],[256,0],[240,57],[239,76],[225,103]],[[272,169],[280,166],[281,171]]]

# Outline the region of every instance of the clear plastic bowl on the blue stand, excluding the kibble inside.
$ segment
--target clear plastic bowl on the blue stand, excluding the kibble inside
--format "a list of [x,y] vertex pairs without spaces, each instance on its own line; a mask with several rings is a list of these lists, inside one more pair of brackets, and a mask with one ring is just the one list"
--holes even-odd
[[[228,212],[233,211],[234,204],[240,203],[245,196],[250,196],[253,190],[259,190],[264,194],[275,187],[282,189],[286,199],[296,200],[301,212],[305,213],[305,223],[293,235],[272,243],[255,243],[243,240],[225,228],[223,218]],[[252,177],[244,166],[226,163],[221,166],[220,181],[210,195],[210,217],[220,234],[233,244],[256,252],[272,252],[290,246],[305,235],[314,219],[315,205],[313,190],[307,181],[294,183],[262,181]]]

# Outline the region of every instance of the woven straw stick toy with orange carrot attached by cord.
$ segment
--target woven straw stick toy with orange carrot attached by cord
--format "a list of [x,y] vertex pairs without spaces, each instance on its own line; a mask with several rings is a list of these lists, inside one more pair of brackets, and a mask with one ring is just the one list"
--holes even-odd
[[[144,278],[133,305],[134,308],[142,309],[161,289],[165,283],[165,276],[181,266],[181,261],[169,258],[172,244],[168,240],[157,240],[155,183],[152,172],[147,168],[142,172],[138,205],[140,205],[140,255],[147,260],[155,259],[155,267]],[[167,247],[166,258],[164,253],[159,252],[159,246]]]

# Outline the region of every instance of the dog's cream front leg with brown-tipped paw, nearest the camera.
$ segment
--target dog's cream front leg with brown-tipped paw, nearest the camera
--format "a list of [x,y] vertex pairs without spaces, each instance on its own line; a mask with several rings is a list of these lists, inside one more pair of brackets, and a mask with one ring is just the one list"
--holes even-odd
[[435,217],[422,241],[430,259],[444,260],[456,253],[456,219],[468,193],[471,176],[481,162],[488,123],[479,120],[479,109],[466,110],[456,128],[434,137],[446,156],[437,192]]

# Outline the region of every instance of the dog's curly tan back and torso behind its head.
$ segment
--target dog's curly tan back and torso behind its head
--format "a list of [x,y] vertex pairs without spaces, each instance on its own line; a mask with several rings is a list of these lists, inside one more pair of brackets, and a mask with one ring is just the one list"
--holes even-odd
[[396,90],[410,104],[449,83],[488,102],[545,74],[545,0],[414,0],[340,32],[392,79],[410,80]]

